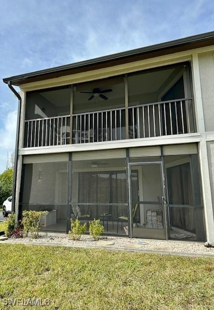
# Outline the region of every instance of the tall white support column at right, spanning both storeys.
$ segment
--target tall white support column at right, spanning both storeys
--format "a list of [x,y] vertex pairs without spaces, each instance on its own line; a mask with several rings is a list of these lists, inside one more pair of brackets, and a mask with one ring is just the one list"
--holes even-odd
[[206,235],[207,235],[207,241],[214,244],[214,212],[213,212],[213,202],[210,187],[206,133],[205,133],[205,124],[203,116],[203,103],[200,88],[198,53],[194,53],[192,55],[192,73],[193,73],[193,90],[195,96],[197,132],[201,134],[201,139],[199,142],[199,163],[201,173]]

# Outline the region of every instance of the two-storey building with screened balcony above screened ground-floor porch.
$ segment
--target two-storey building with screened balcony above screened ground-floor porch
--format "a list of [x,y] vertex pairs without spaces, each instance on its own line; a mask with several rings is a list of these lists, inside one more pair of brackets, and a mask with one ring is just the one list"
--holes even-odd
[[19,98],[17,218],[214,243],[214,32],[3,81]]

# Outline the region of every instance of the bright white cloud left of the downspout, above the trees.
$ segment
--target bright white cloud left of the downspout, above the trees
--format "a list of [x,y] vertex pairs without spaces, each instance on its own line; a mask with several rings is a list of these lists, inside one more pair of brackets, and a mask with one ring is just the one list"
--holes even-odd
[[7,154],[10,156],[15,149],[17,112],[12,111],[5,115],[0,128],[0,172],[4,171],[7,163]]

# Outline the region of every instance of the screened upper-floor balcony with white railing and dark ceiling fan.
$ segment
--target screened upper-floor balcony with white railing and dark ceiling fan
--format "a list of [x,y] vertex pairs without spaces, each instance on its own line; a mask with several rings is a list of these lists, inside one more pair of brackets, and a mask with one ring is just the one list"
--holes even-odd
[[29,93],[26,111],[25,147],[195,132],[183,64]]

